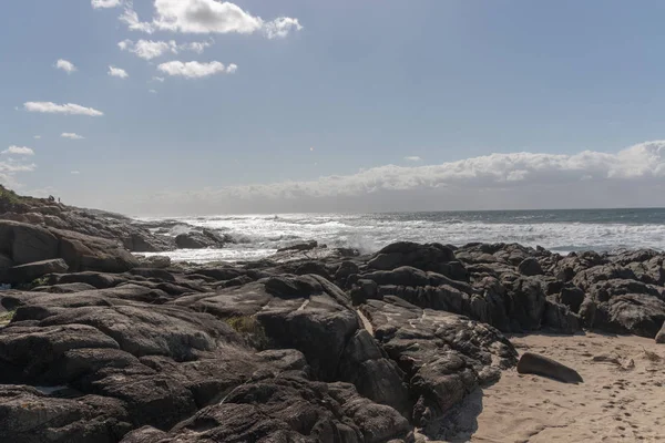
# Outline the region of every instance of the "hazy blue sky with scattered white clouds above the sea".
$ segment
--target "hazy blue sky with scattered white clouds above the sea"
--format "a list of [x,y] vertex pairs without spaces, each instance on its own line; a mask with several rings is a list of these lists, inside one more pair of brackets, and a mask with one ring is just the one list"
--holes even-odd
[[0,183],[130,215],[665,206],[665,2],[21,0]]

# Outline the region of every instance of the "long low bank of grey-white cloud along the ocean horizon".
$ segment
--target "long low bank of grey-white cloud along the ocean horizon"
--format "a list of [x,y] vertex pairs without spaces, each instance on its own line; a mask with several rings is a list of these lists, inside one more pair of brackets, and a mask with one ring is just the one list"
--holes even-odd
[[[665,141],[617,153],[490,154],[428,166],[150,196],[145,210],[416,210],[665,205]],[[181,206],[182,205],[182,206]]]

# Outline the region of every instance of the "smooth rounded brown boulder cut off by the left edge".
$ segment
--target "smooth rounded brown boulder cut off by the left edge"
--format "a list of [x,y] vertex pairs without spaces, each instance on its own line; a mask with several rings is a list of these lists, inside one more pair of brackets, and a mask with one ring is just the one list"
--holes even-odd
[[0,220],[0,253],[17,265],[58,257],[58,239],[47,229]]

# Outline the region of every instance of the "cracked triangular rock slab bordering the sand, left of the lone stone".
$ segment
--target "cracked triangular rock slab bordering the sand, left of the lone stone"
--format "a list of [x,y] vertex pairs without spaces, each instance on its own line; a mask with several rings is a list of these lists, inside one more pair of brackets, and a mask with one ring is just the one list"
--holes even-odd
[[380,347],[406,373],[418,426],[516,363],[516,351],[498,330],[466,317],[423,310],[391,296],[368,300],[360,309]]

